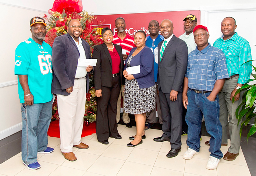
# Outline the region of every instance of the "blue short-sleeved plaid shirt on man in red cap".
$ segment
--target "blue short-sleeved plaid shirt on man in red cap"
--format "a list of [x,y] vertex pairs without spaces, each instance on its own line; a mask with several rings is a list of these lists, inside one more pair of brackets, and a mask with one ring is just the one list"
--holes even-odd
[[229,77],[224,53],[210,43],[202,51],[196,47],[188,55],[185,77],[190,89],[212,91],[216,80]]

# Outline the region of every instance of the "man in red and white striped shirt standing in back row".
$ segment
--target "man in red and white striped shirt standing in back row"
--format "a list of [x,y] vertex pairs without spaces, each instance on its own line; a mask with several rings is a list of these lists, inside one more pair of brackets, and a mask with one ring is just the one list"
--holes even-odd
[[[131,49],[135,47],[134,38],[129,34],[125,33],[126,24],[124,18],[118,17],[115,20],[115,27],[117,33],[114,35],[113,43],[122,47],[123,59],[127,59]],[[117,101],[117,123],[120,120],[120,109],[121,109],[121,95],[124,97],[124,85],[121,87],[120,95]],[[131,120],[127,113],[124,112],[122,120],[128,128],[132,127]]]

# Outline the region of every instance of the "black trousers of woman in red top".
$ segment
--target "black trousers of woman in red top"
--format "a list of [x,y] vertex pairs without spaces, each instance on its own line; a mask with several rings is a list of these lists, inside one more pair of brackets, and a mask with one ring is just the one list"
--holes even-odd
[[99,142],[118,135],[116,115],[120,89],[120,75],[118,75],[112,77],[112,87],[102,86],[102,97],[96,98],[96,134]]

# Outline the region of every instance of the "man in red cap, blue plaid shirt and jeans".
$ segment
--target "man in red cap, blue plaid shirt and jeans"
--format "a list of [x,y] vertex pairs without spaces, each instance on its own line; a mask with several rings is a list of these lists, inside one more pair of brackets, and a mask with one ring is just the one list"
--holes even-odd
[[220,158],[222,128],[219,120],[220,105],[218,93],[221,91],[228,70],[224,53],[208,43],[208,29],[198,25],[193,30],[196,49],[188,55],[188,66],[184,78],[182,101],[187,109],[188,150],[184,159],[192,159],[199,153],[201,121],[205,117],[205,125],[210,138],[210,157],[206,168],[216,169]]

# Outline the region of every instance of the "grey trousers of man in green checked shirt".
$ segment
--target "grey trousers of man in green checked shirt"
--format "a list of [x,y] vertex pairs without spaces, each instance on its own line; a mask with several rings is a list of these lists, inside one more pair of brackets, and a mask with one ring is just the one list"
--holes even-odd
[[[235,111],[237,107],[242,102],[243,92],[240,93],[240,98],[238,101],[232,103],[230,100],[231,92],[237,85],[239,76],[236,76],[230,80],[226,80],[222,90],[219,93],[219,104],[220,104],[220,123],[222,125],[222,144],[228,143],[228,130],[230,133],[230,147],[228,151],[230,153],[239,153],[240,149],[240,136],[239,131],[241,127],[241,122],[238,124],[238,119],[235,116]],[[228,123],[229,115],[229,123]]]

